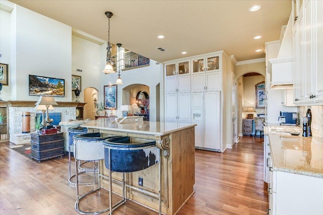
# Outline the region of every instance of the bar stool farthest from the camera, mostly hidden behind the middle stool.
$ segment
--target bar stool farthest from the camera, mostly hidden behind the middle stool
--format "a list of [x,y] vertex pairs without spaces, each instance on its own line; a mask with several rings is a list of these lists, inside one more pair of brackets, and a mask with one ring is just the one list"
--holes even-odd
[[[76,183],[72,182],[71,179],[73,177],[75,177],[75,174],[72,175],[71,173],[71,147],[73,147],[73,136],[77,135],[77,134],[81,134],[81,133],[87,133],[87,128],[86,127],[81,127],[81,126],[73,126],[68,128],[68,132],[69,132],[69,184],[71,185],[76,185]],[[78,161],[78,167],[80,170],[83,170],[82,172],[79,172],[79,174],[83,174],[83,173],[92,173],[93,172],[93,182],[88,182],[88,183],[79,183],[79,185],[91,185],[91,184],[95,184],[95,172],[97,171],[97,165],[95,164],[95,162],[93,163],[93,167],[92,168],[82,168],[81,166],[88,163],[86,162],[81,162],[80,160]]]

